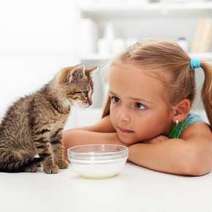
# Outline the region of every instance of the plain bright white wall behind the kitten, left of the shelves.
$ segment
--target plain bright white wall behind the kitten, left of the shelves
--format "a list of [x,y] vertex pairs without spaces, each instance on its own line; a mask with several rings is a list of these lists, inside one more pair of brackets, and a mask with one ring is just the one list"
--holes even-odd
[[69,0],[0,1],[0,117],[18,97],[78,62],[78,11]]

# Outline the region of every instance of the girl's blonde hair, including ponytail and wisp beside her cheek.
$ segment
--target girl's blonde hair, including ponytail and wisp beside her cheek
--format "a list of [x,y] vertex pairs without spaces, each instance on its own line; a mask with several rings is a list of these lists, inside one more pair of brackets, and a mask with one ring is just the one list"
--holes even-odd
[[[147,70],[162,70],[165,75],[165,86],[169,91],[169,101],[176,104],[187,98],[193,103],[195,97],[195,70],[190,66],[191,58],[174,42],[154,41],[136,43],[119,55],[113,62],[130,63],[145,67]],[[212,67],[201,61],[205,80],[202,87],[202,100],[209,122],[212,125]],[[161,78],[162,79],[162,78]],[[103,110],[103,117],[109,115],[110,98]]]

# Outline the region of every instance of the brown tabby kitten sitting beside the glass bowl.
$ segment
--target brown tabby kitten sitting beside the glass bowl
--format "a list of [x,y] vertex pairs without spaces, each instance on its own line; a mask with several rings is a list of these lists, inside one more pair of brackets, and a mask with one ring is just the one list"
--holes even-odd
[[0,125],[0,171],[57,173],[68,167],[61,144],[70,105],[91,105],[94,68],[66,67],[32,95],[19,99]]

